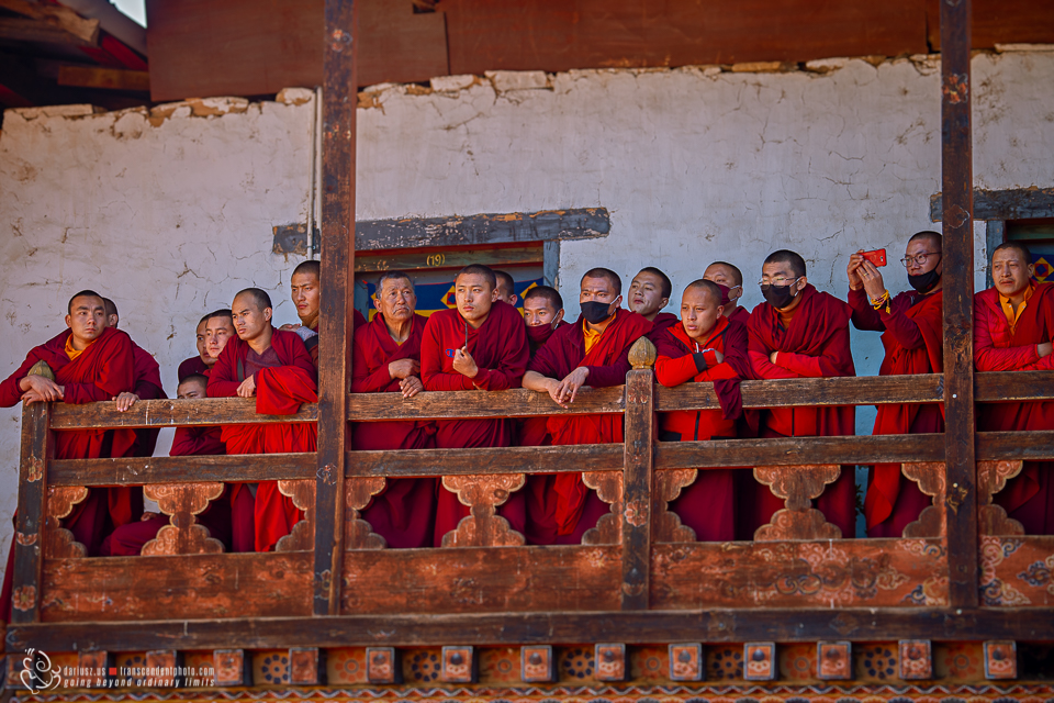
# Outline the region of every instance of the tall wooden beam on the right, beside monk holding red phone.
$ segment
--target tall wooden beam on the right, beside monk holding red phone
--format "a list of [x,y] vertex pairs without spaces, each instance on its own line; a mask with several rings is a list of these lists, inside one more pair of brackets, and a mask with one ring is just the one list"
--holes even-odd
[[969,123],[971,0],[941,4],[941,190],[944,222],[944,451],[949,595],[976,607],[974,190]]

